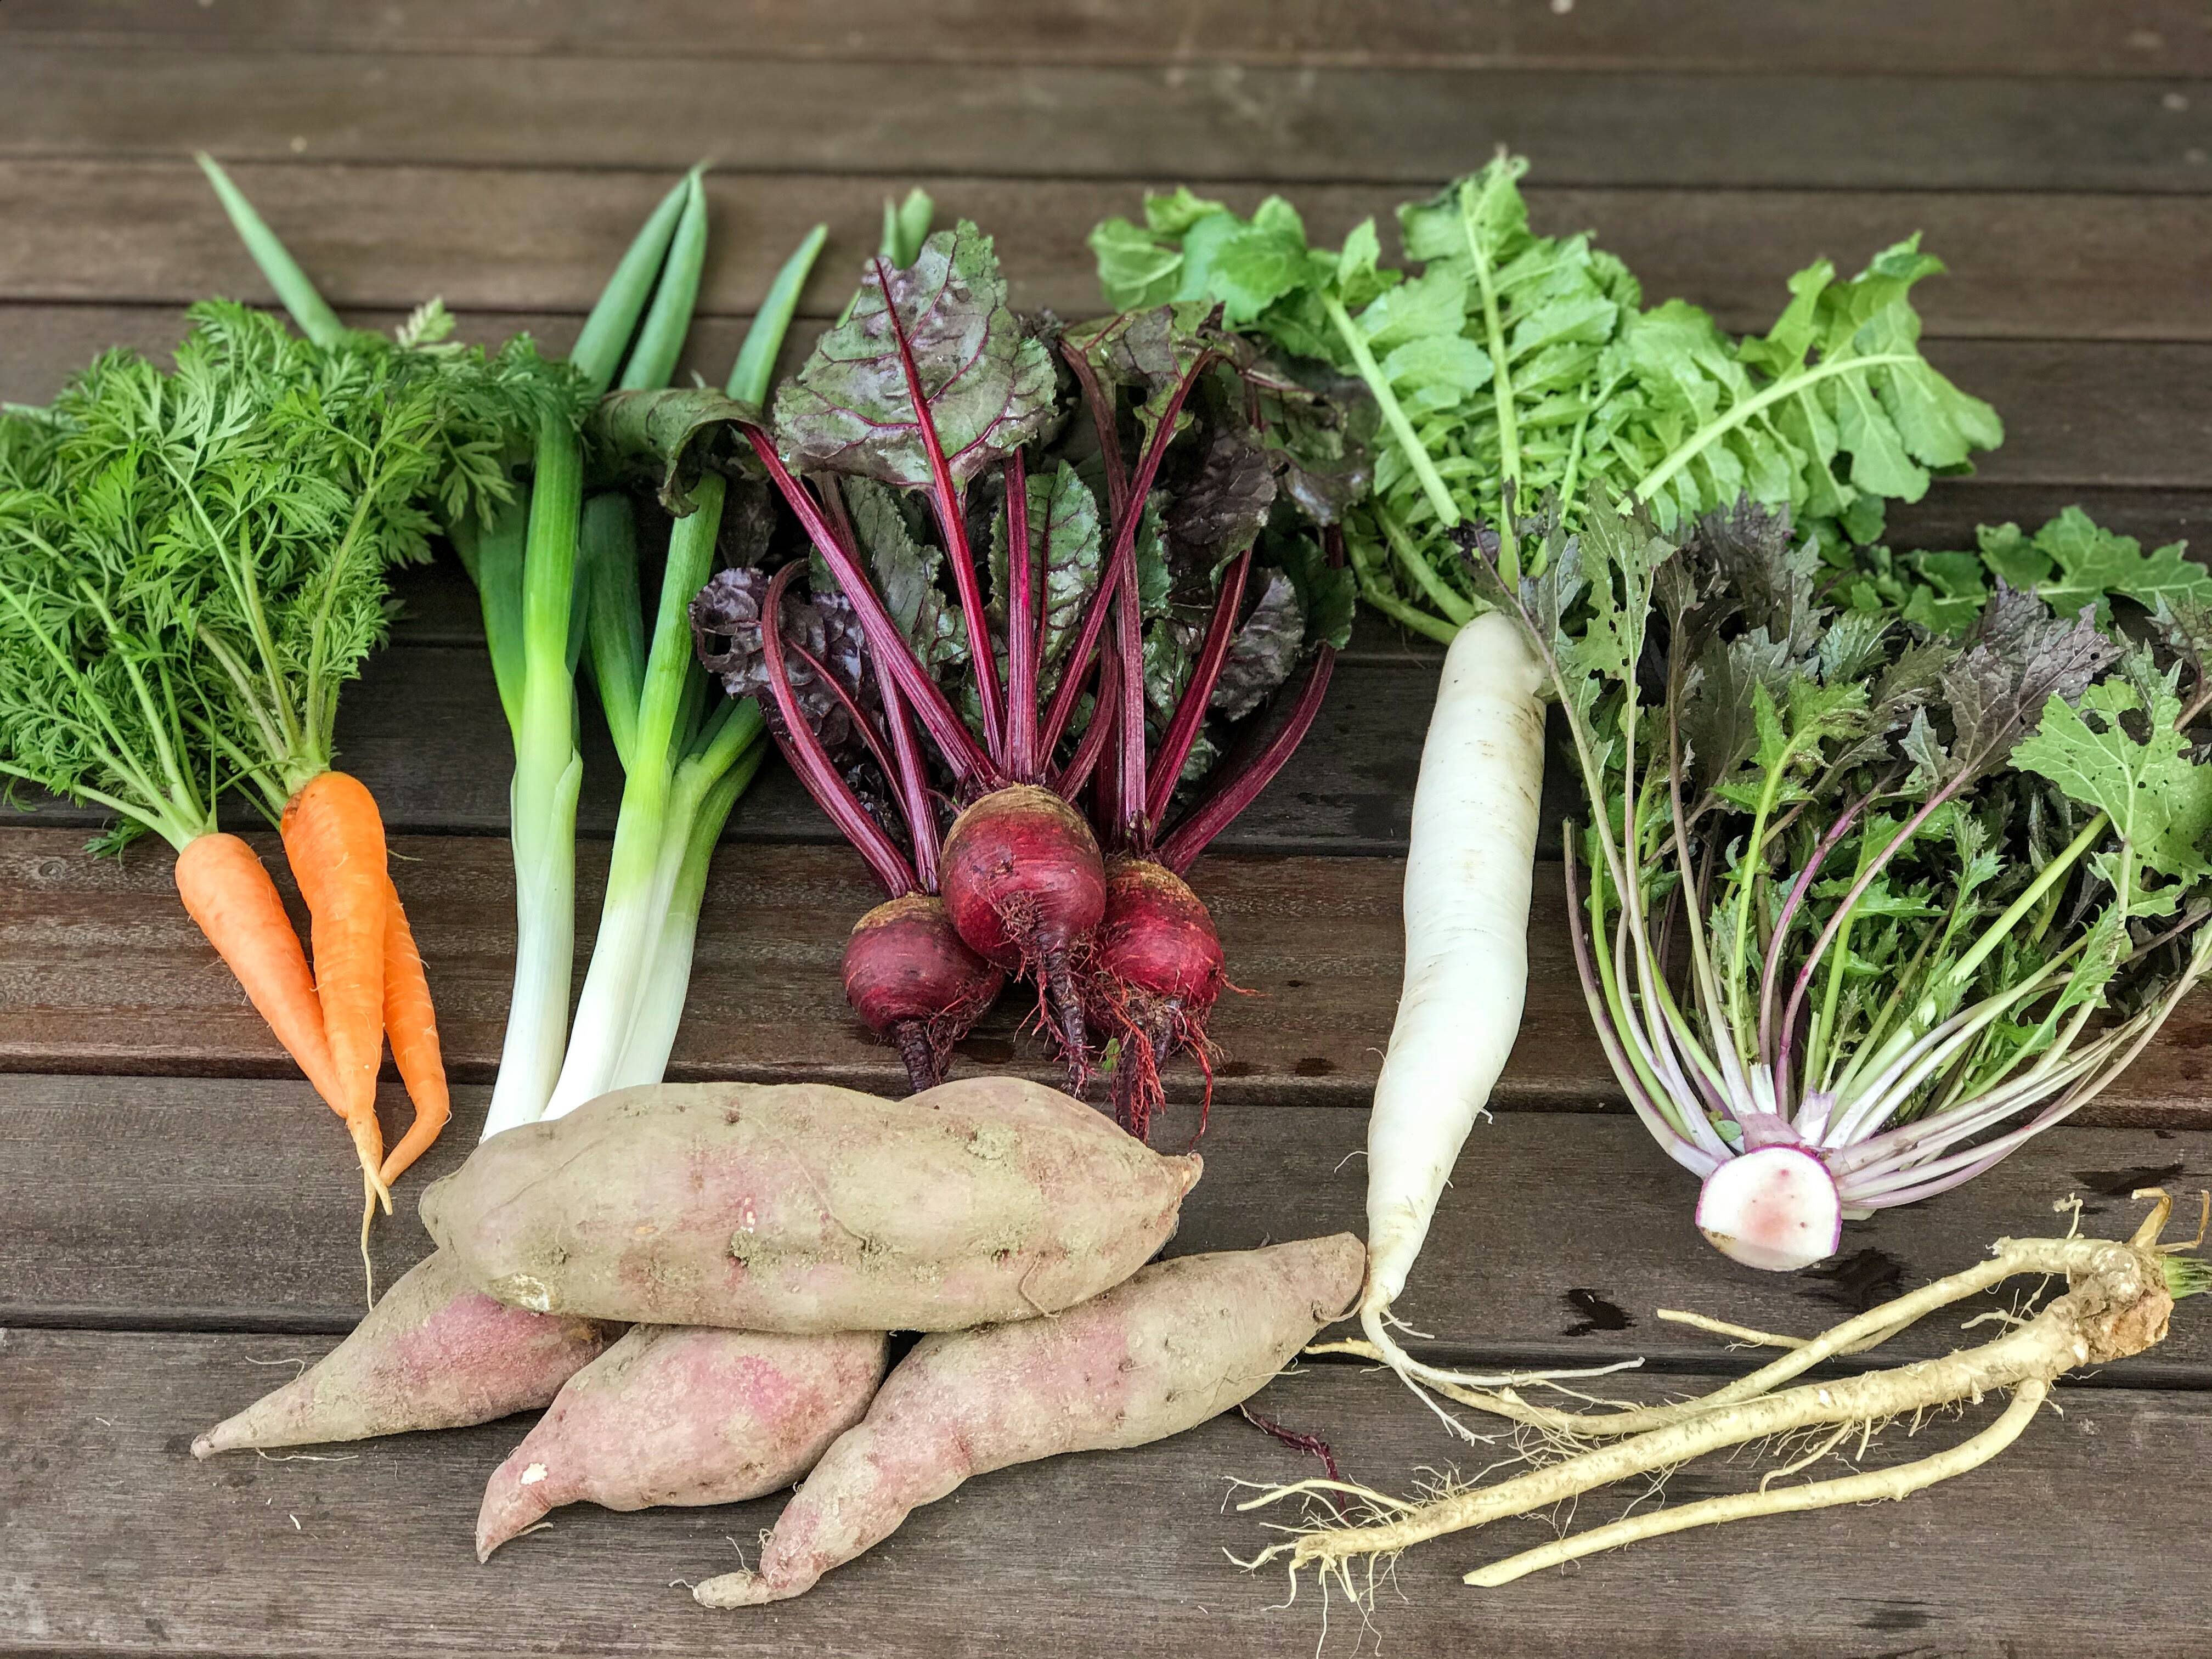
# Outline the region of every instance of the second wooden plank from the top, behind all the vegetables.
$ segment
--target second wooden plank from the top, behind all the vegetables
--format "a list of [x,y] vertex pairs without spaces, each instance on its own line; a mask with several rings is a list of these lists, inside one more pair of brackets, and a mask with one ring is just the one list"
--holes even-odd
[[2212,100],[2188,86],[24,44],[0,155],[1429,184],[1511,142],[1555,184],[2203,195]]

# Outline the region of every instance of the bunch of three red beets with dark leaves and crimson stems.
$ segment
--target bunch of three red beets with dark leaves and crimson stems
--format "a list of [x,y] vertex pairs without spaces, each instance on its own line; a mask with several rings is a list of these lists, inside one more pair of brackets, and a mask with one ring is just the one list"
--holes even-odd
[[1141,1133],[1223,984],[1181,872],[1287,759],[1349,633],[1349,575],[1298,526],[1363,487],[1358,434],[1219,307],[1018,319],[969,223],[869,265],[772,431],[732,420],[807,531],[812,597],[787,604],[799,564],[730,571],[695,626],[891,896],[849,998],[922,1088],[1024,971],[1071,1064],[1106,1033]]

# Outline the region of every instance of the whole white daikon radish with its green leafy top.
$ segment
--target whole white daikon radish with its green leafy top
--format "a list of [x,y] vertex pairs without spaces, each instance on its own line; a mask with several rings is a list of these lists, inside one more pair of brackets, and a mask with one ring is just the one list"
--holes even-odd
[[1807,265],[1763,338],[1730,341],[1694,305],[1644,310],[1635,276],[1588,237],[1535,234],[1524,170],[1500,155],[1405,204],[1418,274],[1383,263],[1371,221],[1340,250],[1307,246],[1279,197],[1241,219],[1177,190],[1146,199],[1141,226],[1110,219],[1091,237],[1115,305],[1219,301],[1310,376],[1365,385],[1389,434],[1371,500],[1347,513],[1352,566],[1369,606],[1451,650],[1413,794],[1405,991],[1367,1130],[1360,1323],[1400,1376],[1431,1383],[1464,1378],[1407,1356],[1389,1310],[1520,1029],[1544,779],[1544,670],[1455,535],[1502,526],[1511,586],[1515,513],[1533,502],[1564,502],[1573,529],[1595,487],[1679,524],[1750,491],[1840,555],[1880,533],[1887,498],[1918,500],[2002,436],[1920,356],[1911,288],[1940,265],[1918,239],[1851,281]]

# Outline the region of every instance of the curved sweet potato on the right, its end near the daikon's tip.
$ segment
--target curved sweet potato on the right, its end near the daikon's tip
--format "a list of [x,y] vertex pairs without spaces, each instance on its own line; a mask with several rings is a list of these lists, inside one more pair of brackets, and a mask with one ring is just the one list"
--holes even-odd
[[1367,1252],[1327,1239],[1161,1261],[1053,1318],[925,1336],[785,1504],[750,1573],[701,1606],[783,1601],[971,1475],[1141,1447],[1252,1398],[1358,1296]]

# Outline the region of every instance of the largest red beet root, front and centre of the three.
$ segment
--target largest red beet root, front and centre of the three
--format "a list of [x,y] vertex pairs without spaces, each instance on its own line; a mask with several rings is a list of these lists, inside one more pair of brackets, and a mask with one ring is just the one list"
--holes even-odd
[[1035,783],[993,790],[945,832],[938,891],[969,949],[1037,978],[1071,1064],[1082,1064],[1071,951],[1106,914],[1106,865],[1084,814]]

